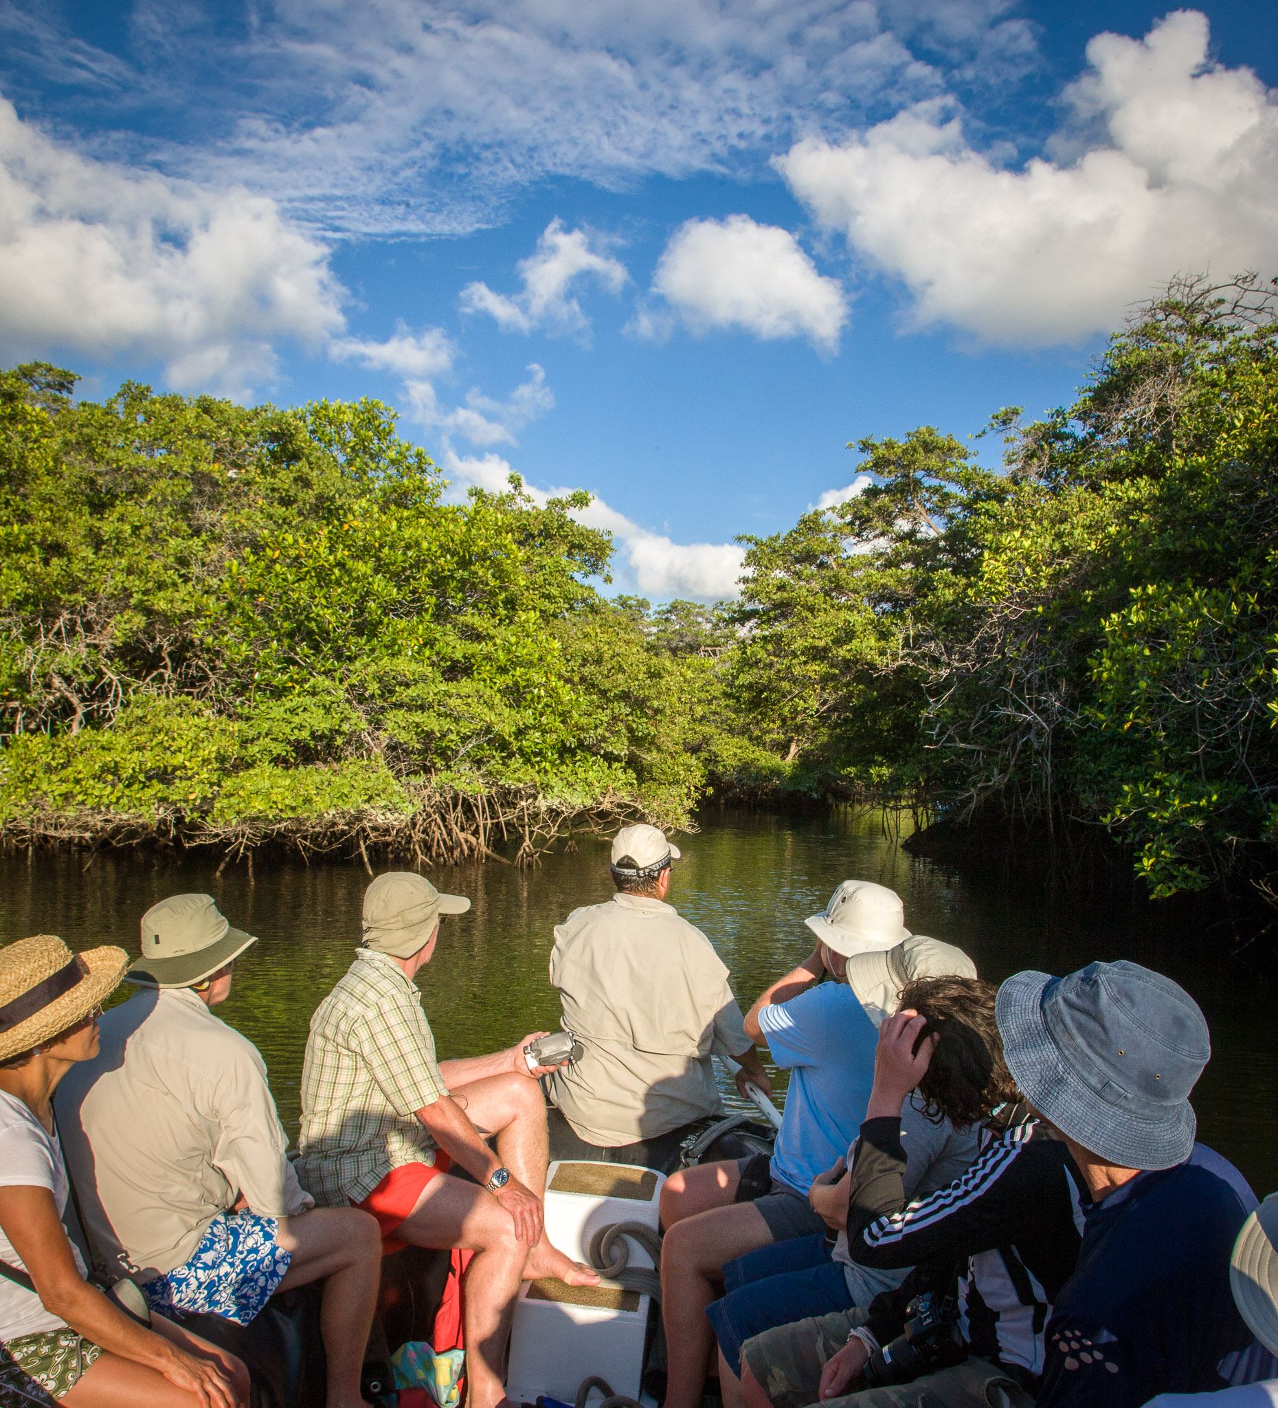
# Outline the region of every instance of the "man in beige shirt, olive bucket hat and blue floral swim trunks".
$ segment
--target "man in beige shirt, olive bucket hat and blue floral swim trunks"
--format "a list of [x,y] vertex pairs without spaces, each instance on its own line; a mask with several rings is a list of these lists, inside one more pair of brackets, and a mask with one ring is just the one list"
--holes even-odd
[[256,942],[207,894],[142,915],[125,974],[141,991],[104,1014],[101,1050],[58,1091],[66,1159],[99,1269],[135,1280],[155,1311],[248,1325],[276,1291],[322,1280],[327,1408],[358,1408],[377,1224],[314,1209],[258,1048],[211,1011]]

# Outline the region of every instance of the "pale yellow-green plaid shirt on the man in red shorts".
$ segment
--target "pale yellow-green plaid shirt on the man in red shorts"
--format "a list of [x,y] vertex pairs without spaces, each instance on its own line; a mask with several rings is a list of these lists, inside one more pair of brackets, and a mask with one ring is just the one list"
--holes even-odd
[[360,1202],[405,1163],[434,1163],[415,1111],[448,1094],[421,993],[394,959],[360,949],[315,1008],[301,1071],[297,1176],[315,1201]]

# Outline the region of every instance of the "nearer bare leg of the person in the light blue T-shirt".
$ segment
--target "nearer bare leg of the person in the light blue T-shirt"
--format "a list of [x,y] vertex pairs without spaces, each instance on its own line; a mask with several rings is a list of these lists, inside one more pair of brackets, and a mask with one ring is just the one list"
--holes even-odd
[[662,1322],[670,1362],[666,1408],[697,1408],[701,1402],[714,1345],[705,1307],[723,1284],[723,1263],[771,1240],[767,1222],[753,1202],[698,1212],[666,1233],[662,1243]]

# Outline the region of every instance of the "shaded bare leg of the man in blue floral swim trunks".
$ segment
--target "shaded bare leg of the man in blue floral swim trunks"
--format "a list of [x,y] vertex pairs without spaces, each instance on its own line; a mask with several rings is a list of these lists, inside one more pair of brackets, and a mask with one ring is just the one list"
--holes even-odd
[[324,1280],[320,1331],[328,1366],[325,1408],[360,1408],[365,1398],[359,1371],[381,1277],[377,1222],[359,1208],[312,1208],[296,1218],[280,1218],[279,1240],[293,1253],[280,1290]]

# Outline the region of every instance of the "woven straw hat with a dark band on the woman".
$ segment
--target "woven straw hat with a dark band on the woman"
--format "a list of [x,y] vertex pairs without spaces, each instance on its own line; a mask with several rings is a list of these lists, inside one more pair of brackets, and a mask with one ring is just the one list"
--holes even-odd
[[0,949],[0,1060],[75,1026],[115,991],[127,963],[124,949],[73,955],[52,934]]

